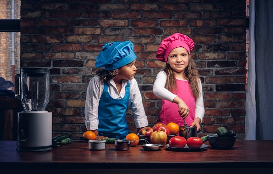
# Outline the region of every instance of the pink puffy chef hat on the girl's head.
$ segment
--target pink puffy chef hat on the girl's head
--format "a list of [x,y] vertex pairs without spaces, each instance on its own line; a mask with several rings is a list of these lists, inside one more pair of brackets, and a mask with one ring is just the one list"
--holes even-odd
[[174,33],[161,41],[156,58],[162,62],[167,62],[170,52],[177,47],[184,47],[191,56],[190,50],[194,48],[194,41],[184,34]]

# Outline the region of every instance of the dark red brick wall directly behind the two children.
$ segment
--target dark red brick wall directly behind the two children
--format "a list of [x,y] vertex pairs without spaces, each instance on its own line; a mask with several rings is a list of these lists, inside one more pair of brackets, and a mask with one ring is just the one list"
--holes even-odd
[[[155,55],[165,37],[180,32],[195,42],[192,56],[203,82],[200,136],[223,125],[244,138],[246,85],[245,0],[22,0],[21,67],[50,67],[54,134],[86,131],[84,103],[96,56],[105,42],[131,40],[136,80],[149,125],[161,100],[152,85],[164,63]],[[130,131],[136,132],[132,111]]]

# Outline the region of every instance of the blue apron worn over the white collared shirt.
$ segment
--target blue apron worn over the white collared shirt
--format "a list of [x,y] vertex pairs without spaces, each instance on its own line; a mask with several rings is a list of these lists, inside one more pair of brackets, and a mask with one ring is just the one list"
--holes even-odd
[[122,99],[114,99],[108,92],[108,82],[103,85],[103,93],[99,102],[99,128],[100,136],[125,139],[129,134],[126,121],[126,111],[130,97],[130,83],[125,87],[125,95]]

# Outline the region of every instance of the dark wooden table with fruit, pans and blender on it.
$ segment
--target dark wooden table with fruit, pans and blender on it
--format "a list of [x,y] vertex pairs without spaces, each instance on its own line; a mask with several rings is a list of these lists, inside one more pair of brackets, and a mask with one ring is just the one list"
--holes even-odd
[[1,174],[263,174],[273,171],[273,140],[236,141],[232,149],[208,147],[197,152],[144,151],[140,145],[117,151],[106,144],[102,151],[88,150],[88,143],[71,142],[50,151],[18,152],[16,141],[0,141]]

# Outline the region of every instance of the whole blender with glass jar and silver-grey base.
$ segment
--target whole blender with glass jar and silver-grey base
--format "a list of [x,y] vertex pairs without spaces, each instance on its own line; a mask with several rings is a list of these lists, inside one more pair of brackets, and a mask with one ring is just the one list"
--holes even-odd
[[17,151],[52,149],[52,112],[45,110],[49,79],[48,68],[21,68],[15,76],[15,96],[24,108],[17,112]]

